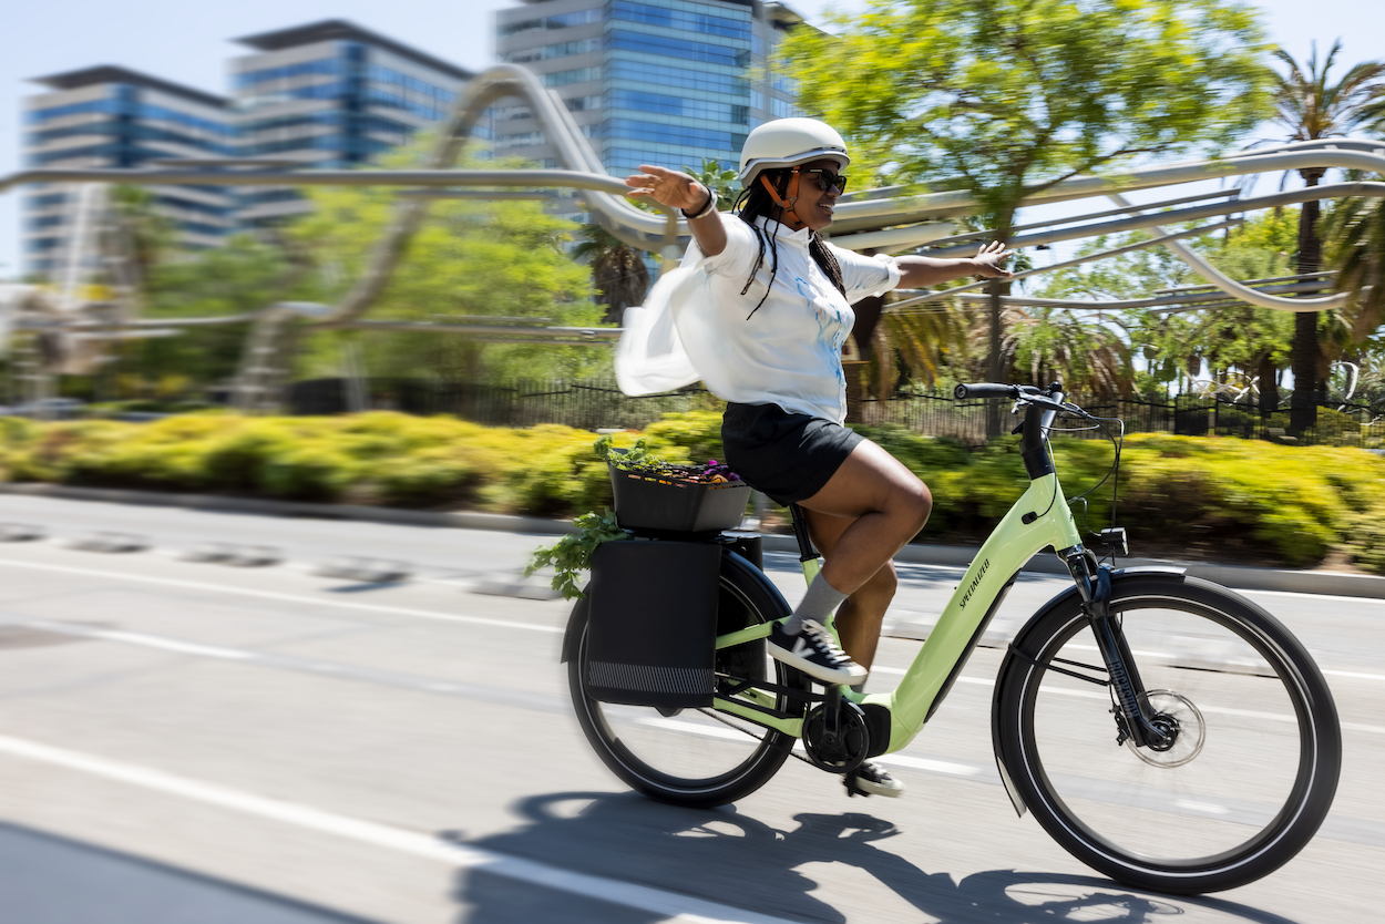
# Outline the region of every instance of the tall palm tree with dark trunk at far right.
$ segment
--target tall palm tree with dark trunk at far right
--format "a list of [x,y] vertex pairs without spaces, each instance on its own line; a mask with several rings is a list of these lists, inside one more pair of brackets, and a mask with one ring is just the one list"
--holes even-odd
[[[1357,64],[1341,82],[1328,83],[1327,72],[1332,69],[1342,40],[1332,43],[1321,69],[1317,61],[1317,43],[1312,46],[1307,72],[1284,48],[1276,48],[1274,57],[1288,69],[1277,76],[1276,122],[1289,130],[1291,141],[1310,141],[1346,134],[1370,118],[1381,97],[1379,79],[1385,76],[1385,62],[1364,61]],[[1324,168],[1299,170],[1303,183],[1317,186],[1325,173]],[[1299,213],[1298,272],[1317,273],[1323,269],[1323,241],[1317,231],[1319,202],[1310,199]],[[1294,405],[1289,410],[1289,428],[1295,432],[1313,425],[1317,420],[1317,392],[1321,380],[1321,350],[1317,342],[1317,312],[1302,312],[1295,317],[1294,350]]]

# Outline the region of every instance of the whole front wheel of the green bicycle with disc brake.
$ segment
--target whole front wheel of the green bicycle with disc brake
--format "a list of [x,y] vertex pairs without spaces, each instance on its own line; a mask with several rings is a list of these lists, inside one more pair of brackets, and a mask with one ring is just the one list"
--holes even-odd
[[1148,889],[1199,894],[1266,876],[1313,837],[1337,791],[1337,708],[1299,641],[1249,600],[1174,574],[1112,580],[1165,751],[1122,738],[1076,596],[1035,618],[996,691],[1018,794],[1073,856]]

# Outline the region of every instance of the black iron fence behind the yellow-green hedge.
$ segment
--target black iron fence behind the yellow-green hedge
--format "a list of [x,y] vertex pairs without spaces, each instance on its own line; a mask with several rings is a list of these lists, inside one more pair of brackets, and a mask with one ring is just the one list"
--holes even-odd
[[[504,385],[447,382],[414,378],[374,378],[352,389],[346,380],[320,378],[296,382],[289,391],[295,414],[339,414],[353,403],[409,414],[454,414],[490,427],[565,424],[580,429],[643,429],[661,414],[695,409],[719,410],[702,388],[665,395],[629,398],[612,381],[519,380]],[[1346,445],[1378,449],[1385,445],[1385,410],[1366,406],[1324,405],[1317,425],[1291,434],[1288,409],[1269,417],[1252,405],[1212,398],[1176,396],[1165,400],[1086,399],[1082,407],[1100,417],[1125,421],[1127,434],[1168,432],[1186,436],[1240,436],[1303,445]],[[967,443],[986,441],[988,402],[958,402],[950,393],[897,395],[866,399],[859,407],[863,424],[899,424],[929,436],[950,436]],[[1006,416],[1004,420],[1010,420]],[[1008,428],[1008,427],[1007,427]],[[1073,438],[1104,438],[1097,429],[1073,429]]]

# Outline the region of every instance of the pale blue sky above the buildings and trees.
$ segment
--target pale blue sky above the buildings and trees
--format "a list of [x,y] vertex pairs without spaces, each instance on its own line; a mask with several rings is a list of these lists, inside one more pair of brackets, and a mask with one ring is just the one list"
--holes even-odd
[[[224,94],[226,61],[245,48],[237,36],[350,19],[439,58],[478,71],[494,61],[494,11],[514,0],[237,0],[227,4],[159,0],[10,0],[0,15],[0,176],[21,168],[19,100],[37,91],[28,79],[98,64],[118,64]],[[863,0],[787,0],[809,22],[830,8],[863,10]],[[1339,61],[1385,58],[1385,4],[1379,0],[1265,0],[1270,39],[1305,61],[1309,43],[1323,53],[1342,37]],[[1334,69],[1334,73],[1342,71]],[[1144,199],[1150,201],[1150,199]],[[19,273],[18,195],[0,194],[0,280]]]

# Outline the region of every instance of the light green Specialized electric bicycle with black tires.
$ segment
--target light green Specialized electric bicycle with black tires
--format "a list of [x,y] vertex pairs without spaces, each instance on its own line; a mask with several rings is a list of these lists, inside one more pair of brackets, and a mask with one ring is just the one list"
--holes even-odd
[[[634,790],[690,806],[744,798],[796,748],[834,773],[867,758],[888,763],[942,705],[1021,568],[1051,549],[1073,585],[1008,643],[992,700],[992,747],[1015,809],[1032,812],[1083,863],[1138,888],[1210,892],[1278,869],[1323,823],[1341,769],[1337,708],[1313,658],[1274,616],[1226,587],[1172,567],[1098,562],[1048,438],[1058,418],[1101,421],[1065,402],[1060,385],[958,385],[957,398],[1024,409],[1029,488],[981,546],[893,691],[820,690],[770,658],[770,625],[791,607],[735,536],[709,536],[723,546],[709,708],[590,695],[587,601],[573,608],[564,659],[593,748]],[[819,562],[798,517],[795,532],[810,580]],[[1101,542],[1123,544],[1123,531],[1102,531]]]

